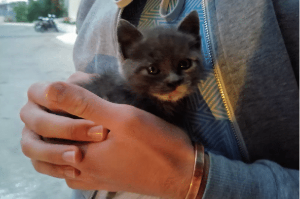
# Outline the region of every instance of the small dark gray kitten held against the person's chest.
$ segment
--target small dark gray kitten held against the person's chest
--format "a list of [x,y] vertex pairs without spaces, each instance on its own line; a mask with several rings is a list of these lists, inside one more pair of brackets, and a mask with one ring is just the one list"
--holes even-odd
[[79,86],[114,103],[129,104],[178,126],[179,102],[204,78],[196,11],[177,26],[140,32],[121,19],[117,27],[119,71],[106,71]]

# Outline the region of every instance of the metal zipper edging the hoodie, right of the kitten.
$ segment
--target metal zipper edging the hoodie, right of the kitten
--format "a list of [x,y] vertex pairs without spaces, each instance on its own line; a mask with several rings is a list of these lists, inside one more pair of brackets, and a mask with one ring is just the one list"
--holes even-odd
[[216,65],[215,62],[215,57],[212,51],[212,46],[211,46],[211,39],[210,39],[210,34],[209,34],[209,27],[208,27],[208,16],[207,16],[207,3],[206,0],[202,0],[202,10],[203,10],[203,21],[204,21],[204,26],[205,26],[205,38],[207,41],[207,46],[208,46],[208,53],[209,53],[209,57],[210,57],[210,61],[212,63],[213,66],[213,71],[214,71],[214,75],[215,75],[215,79],[216,79],[216,83],[218,85],[218,89],[222,98],[222,101],[224,103],[228,118],[229,118],[229,122],[230,122],[230,126],[232,129],[232,132],[234,134],[234,137],[237,141],[238,147],[239,147],[239,151],[240,154],[242,156],[242,160],[249,162],[249,155],[248,155],[248,151],[246,149],[246,145],[244,142],[244,139],[242,137],[242,133],[240,131],[240,128],[238,126],[237,121],[235,120],[235,116],[234,116],[234,112],[230,106],[230,102],[227,98],[227,93],[226,90],[223,89],[223,81],[221,78],[221,73],[220,70],[218,68],[218,66]]

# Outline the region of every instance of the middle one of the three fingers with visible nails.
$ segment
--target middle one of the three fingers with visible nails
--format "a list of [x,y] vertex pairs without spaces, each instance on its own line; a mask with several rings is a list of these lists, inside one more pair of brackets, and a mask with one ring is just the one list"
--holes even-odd
[[26,126],[22,131],[21,147],[23,153],[32,160],[55,165],[74,165],[82,160],[81,151],[77,146],[44,142]]

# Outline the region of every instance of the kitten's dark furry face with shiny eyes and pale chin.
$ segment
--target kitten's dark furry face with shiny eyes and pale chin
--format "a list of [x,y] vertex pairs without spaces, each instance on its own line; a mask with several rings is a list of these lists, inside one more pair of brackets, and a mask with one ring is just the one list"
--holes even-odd
[[[129,44],[127,40],[121,48],[125,58],[123,74],[134,92],[175,102],[195,91],[203,72],[199,19],[195,19],[198,29],[189,24],[197,34],[180,30],[186,19],[190,18],[186,17],[178,29],[155,28],[144,35],[133,28],[135,35],[130,39],[136,41]],[[128,32],[122,35],[124,40]]]

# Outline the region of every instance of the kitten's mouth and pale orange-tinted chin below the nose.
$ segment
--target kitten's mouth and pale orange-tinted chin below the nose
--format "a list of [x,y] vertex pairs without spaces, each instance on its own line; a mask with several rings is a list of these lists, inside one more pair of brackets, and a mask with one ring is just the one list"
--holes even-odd
[[186,85],[180,85],[170,93],[165,93],[165,94],[153,93],[152,95],[163,101],[176,102],[177,100],[185,97],[189,93],[190,92],[187,90]]

